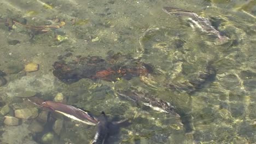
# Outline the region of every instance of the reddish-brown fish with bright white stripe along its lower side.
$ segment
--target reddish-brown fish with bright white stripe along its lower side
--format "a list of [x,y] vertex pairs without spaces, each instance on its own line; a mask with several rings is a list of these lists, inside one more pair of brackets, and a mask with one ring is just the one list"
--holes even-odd
[[98,123],[97,118],[95,118],[90,112],[83,111],[72,105],[65,105],[54,101],[43,100],[37,97],[30,97],[28,100],[36,105],[39,105],[40,107],[53,112],[61,113],[66,117],[85,124],[96,125]]

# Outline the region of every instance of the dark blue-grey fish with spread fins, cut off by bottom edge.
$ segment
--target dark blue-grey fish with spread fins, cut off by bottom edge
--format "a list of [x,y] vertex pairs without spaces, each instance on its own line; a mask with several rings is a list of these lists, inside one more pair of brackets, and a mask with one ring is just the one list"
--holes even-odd
[[123,121],[119,122],[110,122],[103,111],[101,112],[101,116],[98,117],[98,121],[97,132],[94,136],[94,141],[92,141],[92,144],[108,143],[107,139],[109,136],[117,134],[120,127],[130,124],[128,119],[124,119]]

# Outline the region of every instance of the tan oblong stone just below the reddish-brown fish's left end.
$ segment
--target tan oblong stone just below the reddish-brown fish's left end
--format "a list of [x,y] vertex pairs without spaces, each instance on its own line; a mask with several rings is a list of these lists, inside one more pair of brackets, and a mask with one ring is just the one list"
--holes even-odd
[[36,107],[30,109],[15,110],[15,117],[22,119],[36,118],[38,116],[38,109]]

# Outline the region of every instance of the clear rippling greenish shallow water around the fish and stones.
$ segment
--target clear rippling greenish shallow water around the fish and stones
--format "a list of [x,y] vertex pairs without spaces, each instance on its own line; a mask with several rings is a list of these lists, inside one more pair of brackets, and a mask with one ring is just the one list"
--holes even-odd
[[[45,7],[43,2],[53,7]],[[193,30],[186,20],[164,13],[164,6],[188,9],[220,21],[219,31],[231,40],[218,43],[218,39]],[[62,93],[68,104],[83,107],[95,115],[104,110],[109,117],[131,119],[132,124],[113,138],[115,143],[256,141],[254,2],[2,1],[0,7],[2,18],[26,19],[30,25],[44,25],[56,18],[66,22],[64,27],[35,35],[33,40],[27,29],[17,26],[8,31],[1,23],[0,70],[7,73],[8,80],[7,85],[0,87],[2,107],[5,104],[13,110],[34,107],[15,97],[23,91],[39,92],[44,99],[54,99],[57,93]],[[58,41],[56,34],[67,39]],[[144,39],[143,35],[148,37]],[[20,43],[11,45],[8,43],[11,40]],[[140,57],[142,62],[154,65],[155,74],[114,83],[82,79],[72,85],[60,82],[52,74],[53,63],[67,52],[72,52],[73,56],[65,59],[70,61],[77,55],[106,57],[110,50]],[[40,69],[26,74],[10,73],[10,66],[30,62],[38,63]],[[216,69],[216,77],[196,92],[168,87],[170,83],[193,79],[193,74],[203,70],[208,62]],[[186,133],[181,119],[118,98],[118,90],[136,90],[147,97],[170,102],[189,117],[193,133]],[[36,134],[30,131],[33,121],[22,120],[21,125],[13,127],[1,124],[2,142],[32,142]],[[53,143],[89,143],[96,130],[68,119],[64,125]],[[23,135],[18,136],[21,131]]]

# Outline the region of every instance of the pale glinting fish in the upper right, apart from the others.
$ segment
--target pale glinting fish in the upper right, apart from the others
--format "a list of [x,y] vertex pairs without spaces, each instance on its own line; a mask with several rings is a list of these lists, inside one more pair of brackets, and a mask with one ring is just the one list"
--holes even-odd
[[173,7],[164,7],[162,10],[165,11],[167,14],[175,14],[178,16],[187,16],[189,17],[189,25],[192,28],[199,28],[202,32],[211,33],[213,35],[216,35],[216,37],[220,40],[226,40],[229,39],[228,37],[225,37],[224,35],[220,34],[220,32],[212,26],[212,23],[209,19],[205,17],[201,17],[194,13],[193,11],[179,9],[179,8],[173,8]]

